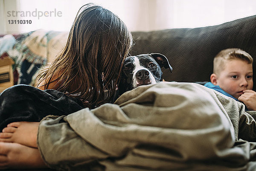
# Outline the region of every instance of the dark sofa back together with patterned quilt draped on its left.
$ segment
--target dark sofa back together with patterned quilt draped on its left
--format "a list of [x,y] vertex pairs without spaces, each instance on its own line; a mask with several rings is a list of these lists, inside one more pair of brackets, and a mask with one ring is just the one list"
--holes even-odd
[[[163,69],[165,81],[204,84],[209,81],[212,73],[214,56],[222,49],[236,47],[252,55],[254,59],[253,80],[255,80],[255,30],[256,15],[216,26],[132,32],[134,46],[130,54],[161,53],[169,59],[173,67],[172,73]],[[14,84],[35,85],[35,76],[39,68],[55,58],[55,55],[65,45],[67,35],[68,32],[46,30],[13,35],[15,41],[12,43],[7,41],[10,43],[10,48],[3,52],[1,58],[9,56],[15,61],[13,65]],[[256,90],[255,85],[253,90]],[[241,142],[237,142],[236,145],[239,143]]]

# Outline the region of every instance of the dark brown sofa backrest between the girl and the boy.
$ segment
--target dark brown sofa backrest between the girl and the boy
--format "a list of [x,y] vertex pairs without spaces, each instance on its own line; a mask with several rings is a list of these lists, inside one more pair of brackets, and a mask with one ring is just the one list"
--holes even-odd
[[[209,81],[213,58],[222,49],[243,49],[252,55],[255,64],[255,30],[256,15],[216,26],[132,32],[135,44],[131,55],[152,52],[165,55],[173,67],[173,73],[163,71],[166,81]],[[255,76],[256,67],[253,68]]]

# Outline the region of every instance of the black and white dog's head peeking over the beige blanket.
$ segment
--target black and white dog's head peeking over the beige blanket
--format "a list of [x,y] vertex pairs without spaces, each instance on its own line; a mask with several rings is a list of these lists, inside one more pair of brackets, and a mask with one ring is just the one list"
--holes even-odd
[[168,59],[160,53],[129,56],[125,59],[119,83],[119,95],[140,85],[163,81],[161,68],[172,72]]

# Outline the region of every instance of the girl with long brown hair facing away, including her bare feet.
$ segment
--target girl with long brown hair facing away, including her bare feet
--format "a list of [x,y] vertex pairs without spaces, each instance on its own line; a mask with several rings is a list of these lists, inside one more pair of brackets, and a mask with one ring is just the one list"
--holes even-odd
[[[109,102],[131,45],[131,32],[119,17],[101,6],[82,6],[66,46],[38,75],[38,88],[80,99],[84,107]],[[37,148],[38,126],[39,122],[14,122],[4,129],[0,169],[46,167]]]

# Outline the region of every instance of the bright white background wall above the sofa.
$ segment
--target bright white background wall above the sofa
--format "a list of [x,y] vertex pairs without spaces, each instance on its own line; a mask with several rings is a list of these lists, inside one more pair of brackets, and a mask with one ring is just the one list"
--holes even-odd
[[[110,9],[131,31],[195,28],[256,15],[256,0],[0,0],[0,34],[35,29],[69,31],[76,12],[90,2]],[[22,17],[21,13],[16,16],[16,12],[35,10],[56,10],[61,12],[61,17],[38,18],[38,14]],[[9,16],[12,11],[14,15]],[[31,20],[32,23],[10,24],[8,20]]]

